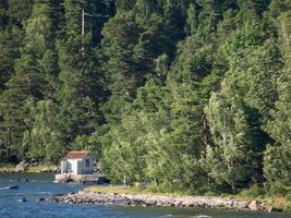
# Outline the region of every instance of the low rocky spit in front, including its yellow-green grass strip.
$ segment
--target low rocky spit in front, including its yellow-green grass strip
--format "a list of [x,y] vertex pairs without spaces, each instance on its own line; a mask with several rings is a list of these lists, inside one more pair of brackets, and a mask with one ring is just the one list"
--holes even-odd
[[187,194],[155,193],[147,187],[94,185],[77,193],[52,196],[52,202],[69,204],[116,204],[144,207],[186,207],[233,210],[290,213],[290,202],[283,197],[254,198],[242,195],[193,196]]

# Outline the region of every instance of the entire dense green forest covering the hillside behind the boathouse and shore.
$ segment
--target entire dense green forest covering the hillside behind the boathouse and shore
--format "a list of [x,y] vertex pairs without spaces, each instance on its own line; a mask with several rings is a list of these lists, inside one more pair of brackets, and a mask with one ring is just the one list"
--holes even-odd
[[2,0],[1,161],[86,149],[159,192],[290,192],[290,5]]

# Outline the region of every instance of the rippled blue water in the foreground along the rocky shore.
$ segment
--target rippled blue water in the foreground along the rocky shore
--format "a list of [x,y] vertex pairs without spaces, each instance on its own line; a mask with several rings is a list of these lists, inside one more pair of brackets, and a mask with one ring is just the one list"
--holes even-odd
[[[22,181],[17,181],[21,179]],[[23,181],[28,179],[28,182]],[[217,211],[204,209],[143,208],[126,206],[69,205],[50,202],[37,202],[44,197],[50,199],[52,194],[76,192],[81,184],[53,183],[52,174],[11,174],[0,173],[0,189],[19,185],[17,190],[0,191],[0,218],[32,217],[108,217],[108,218],[170,218],[170,217],[211,217],[211,218],[290,218],[286,214]],[[25,197],[27,202],[19,202]]]

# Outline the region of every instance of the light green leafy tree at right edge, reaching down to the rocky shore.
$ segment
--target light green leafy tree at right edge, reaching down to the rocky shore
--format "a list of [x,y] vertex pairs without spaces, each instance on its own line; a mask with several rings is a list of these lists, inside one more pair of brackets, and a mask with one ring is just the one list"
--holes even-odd
[[290,111],[290,66],[284,69],[278,80],[279,99],[271,111],[272,119],[267,125],[267,131],[275,140],[264,153],[264,175],[267,184],[275,193],[290,192],[291,168],[291,111]]

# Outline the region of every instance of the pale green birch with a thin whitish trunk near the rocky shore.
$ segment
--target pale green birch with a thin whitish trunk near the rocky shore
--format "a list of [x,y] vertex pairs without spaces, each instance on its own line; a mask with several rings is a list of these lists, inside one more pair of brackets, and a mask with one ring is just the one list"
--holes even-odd
[[252,128],[247,108],[235,82],[223,81],[221,90],[211,95],[205,111],[215,147],[207,147],[209,175],[219,184],[226,182],[232,192],[253,174]]

